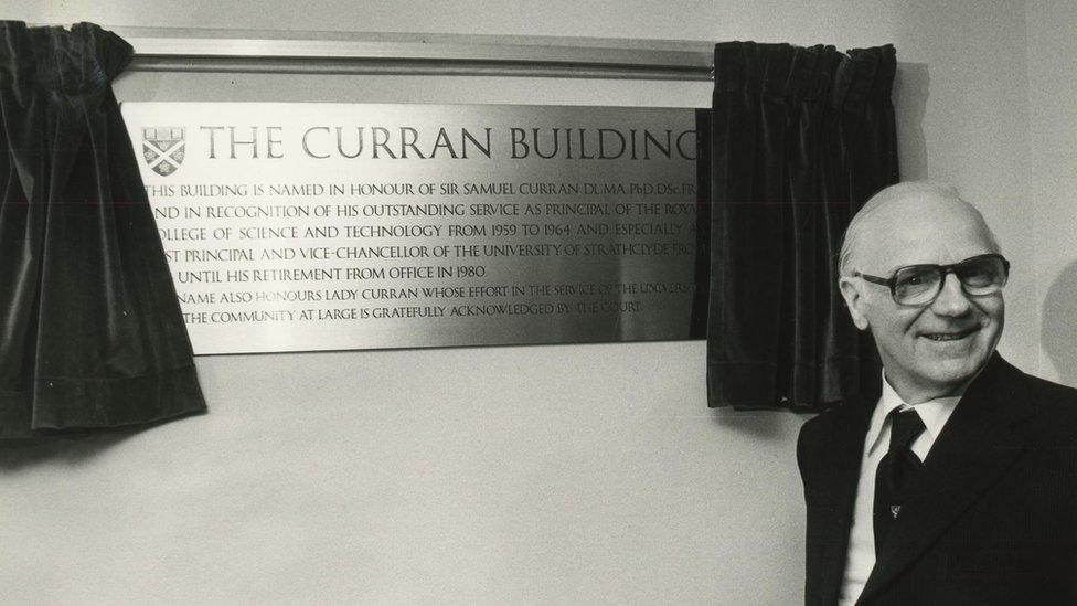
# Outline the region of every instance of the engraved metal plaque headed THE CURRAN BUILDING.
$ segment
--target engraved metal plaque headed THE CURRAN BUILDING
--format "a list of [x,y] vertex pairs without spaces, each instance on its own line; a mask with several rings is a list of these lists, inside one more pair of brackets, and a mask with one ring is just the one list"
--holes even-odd
[[195,353],[691,337],[694,109],[122,111]]

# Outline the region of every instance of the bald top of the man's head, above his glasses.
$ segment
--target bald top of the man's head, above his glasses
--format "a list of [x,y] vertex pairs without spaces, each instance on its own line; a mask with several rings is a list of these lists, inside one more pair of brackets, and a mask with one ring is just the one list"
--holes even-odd
[[909,241],[938,240],[939,246],[945,247],[948,240],[958,235],[982,240],[990,252],[1001,252],[983,215],[961,200],[956,189],[918,181],[891,185],[873,195],[853,216],[845,230],[839,272],[842,276],[851,276],[854,270],[884,272],[872,266],[883,257],[893,257],[894,248],[906,246]]

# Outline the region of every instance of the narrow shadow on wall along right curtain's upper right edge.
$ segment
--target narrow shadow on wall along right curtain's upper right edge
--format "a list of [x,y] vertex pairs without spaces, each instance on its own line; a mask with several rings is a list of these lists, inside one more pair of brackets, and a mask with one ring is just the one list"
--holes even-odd
[[902,179],[929,178],[924,114],[927,111],[931,78],[926,63],[898,63],[894,78],[894,121],[897,125],[897,155]]

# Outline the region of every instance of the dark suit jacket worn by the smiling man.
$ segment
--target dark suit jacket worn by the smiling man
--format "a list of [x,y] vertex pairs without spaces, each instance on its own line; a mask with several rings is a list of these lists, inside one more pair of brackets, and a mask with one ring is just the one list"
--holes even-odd
[[[806,603],[838,600],[878,392],[804,424]],[[860,604],[1077,604],[1077,390],[994,354],[969,385]]]

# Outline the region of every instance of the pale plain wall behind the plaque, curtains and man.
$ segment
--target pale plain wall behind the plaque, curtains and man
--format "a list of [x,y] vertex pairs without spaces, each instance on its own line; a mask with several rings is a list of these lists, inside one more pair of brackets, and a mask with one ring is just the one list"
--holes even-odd
[[[1030,60],[1074,49],[1070,9],[14,0],[3,12],[105,26],[892,42],[904,177],[980,204],[1015,267],[1003,353],[1077,381],[1042,334],[1048,318],[1077,317],[1049,296],[1077,289],[1075,78],[1065,52]],[[128,74],[116,88],[121,100],[710,103],[705,83],[537,78]],[[0,603],[798,603],[803,417],[707,410],[704,361],[701,341],[199,358],[206,416],[0,447]]]

